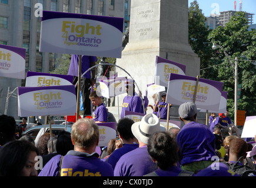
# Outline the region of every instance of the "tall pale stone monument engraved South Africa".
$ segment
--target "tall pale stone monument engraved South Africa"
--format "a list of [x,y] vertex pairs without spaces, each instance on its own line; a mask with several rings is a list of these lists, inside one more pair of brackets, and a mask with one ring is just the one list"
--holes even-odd
[[156,56],[186,65],[187,76],[200,74],[200,58],[188,44],[188,0],[131,1],[129,42],[117,65],[148,79],[154,77]]

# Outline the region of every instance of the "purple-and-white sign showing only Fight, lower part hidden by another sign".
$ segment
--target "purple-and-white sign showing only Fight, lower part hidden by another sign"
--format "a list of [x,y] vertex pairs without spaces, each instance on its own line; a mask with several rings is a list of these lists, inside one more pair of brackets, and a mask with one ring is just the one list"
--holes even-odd
[[56,75],[51,73],[30,72],[26,73],[26,87],[65,86],[72,85],[73,76]]

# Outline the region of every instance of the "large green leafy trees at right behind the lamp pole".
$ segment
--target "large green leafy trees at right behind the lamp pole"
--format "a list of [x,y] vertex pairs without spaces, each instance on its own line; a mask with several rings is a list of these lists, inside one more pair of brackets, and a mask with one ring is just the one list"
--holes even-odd
[[[225,27],[207,33],[202,25],[201,10],[196,1],[189,8],[189,44],[201,58],[201,78],[223,82],[223,89],[228,92],[227,109],[231,119],[234,117],[234,59],[238,61],[238,83],[242,84],[238,110],[245,110],[247,116],[256,112],[256,31],[248,31],[248,21],[245,12],[237,12]],[[192,12],[193,13],[192,13]],[[197,14],[196,14],[197,13]],[[194,16],[194,17],[193,17]],[[197,22],[200,21],[201,24]],[[195,24],[196,23],[196,24]],[[200,29],[196,28],[196,26]],[[199,30],[201,30],[199,31]],[[195,32],[198,32],[195,34]],[[200,35],[205,44],[202,45]],[[191,42],[192,41],[192,42]],[[211,49],[213,43],[221,46]],[[201,48],[201,49],[200,49]]]

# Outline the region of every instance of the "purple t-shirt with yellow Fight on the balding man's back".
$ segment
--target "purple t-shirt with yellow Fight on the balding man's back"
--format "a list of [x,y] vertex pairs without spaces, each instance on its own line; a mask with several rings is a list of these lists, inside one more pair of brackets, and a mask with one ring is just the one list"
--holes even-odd
[[[64,156],[61,167],[61,176],[113,176],[111,164],[102,162],[97,153],[75,152],[71,150]],[[59,176],[61,155],[52,157],[45,164],[38,176]]]

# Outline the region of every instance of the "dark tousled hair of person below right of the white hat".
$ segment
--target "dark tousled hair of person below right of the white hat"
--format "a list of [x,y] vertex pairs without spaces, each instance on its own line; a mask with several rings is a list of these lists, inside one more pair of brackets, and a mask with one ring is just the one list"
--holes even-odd
[[167,170],[178,161],[177,143],[168,132],[154,133],[147,146],[149,155],[162,170]]

